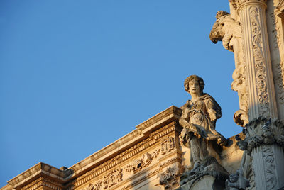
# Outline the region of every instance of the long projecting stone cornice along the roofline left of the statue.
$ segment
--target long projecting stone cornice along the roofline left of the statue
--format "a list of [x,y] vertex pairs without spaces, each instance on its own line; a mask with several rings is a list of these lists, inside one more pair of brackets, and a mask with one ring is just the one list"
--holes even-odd
[[61,170],[40,162],[8,181],[8,184],[13,189],[21,189],[39,177],[50,177],[50,179],[66,184],[67,189],[74,189],[155,145],[163,136],[174,131],[178,132],[180,128],[176,121],[180,118],[181,112],[180,108],[170,106],[138,125],[136,130],[68,169]]

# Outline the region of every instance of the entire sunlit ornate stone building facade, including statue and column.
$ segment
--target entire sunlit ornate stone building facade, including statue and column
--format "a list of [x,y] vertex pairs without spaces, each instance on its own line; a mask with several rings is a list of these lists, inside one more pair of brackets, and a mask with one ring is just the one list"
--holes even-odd
[[234,52],[234,121],[244,133],[224,140],[214,130],[219,105],[195,76],[182,108],[170,106],[70,168],[40,162],[1,190],[284,189],[284,1],[229,4],[210,39]]

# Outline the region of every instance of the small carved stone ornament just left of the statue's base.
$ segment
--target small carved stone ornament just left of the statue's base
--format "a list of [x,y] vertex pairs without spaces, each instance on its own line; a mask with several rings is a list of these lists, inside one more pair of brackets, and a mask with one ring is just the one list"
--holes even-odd
[[180,185],[180,177],[178,167],[168,167],[165,172],[159,174],[160,185],[163,185],[165,190],[175,189]]

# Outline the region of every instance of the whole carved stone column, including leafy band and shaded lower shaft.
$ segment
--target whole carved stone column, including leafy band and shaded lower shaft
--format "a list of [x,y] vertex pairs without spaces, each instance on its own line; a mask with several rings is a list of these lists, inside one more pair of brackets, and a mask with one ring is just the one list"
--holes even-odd
[[244,150],[252,157],[256,189],[284,186],[283,123],[278,121],[265,0],[229,0],[241,19],[249,121]]

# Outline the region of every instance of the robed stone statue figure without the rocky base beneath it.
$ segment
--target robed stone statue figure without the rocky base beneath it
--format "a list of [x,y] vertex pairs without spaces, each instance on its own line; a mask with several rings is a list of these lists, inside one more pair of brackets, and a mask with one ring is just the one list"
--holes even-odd
[[185,79],[185,91],[192,96],[185,105],[182,106],[182,116],[180,125],[183,130],[180,135],[183,145],[191,148],[191,160],[195,167],[212,154],[217,160],[219,156],[214,151],[212,143],[224,145],[226,139],[215,130],[218,118],[221,118],[221,107],[209,94],[203,93],[204,81],[202,78],[191,75]]

